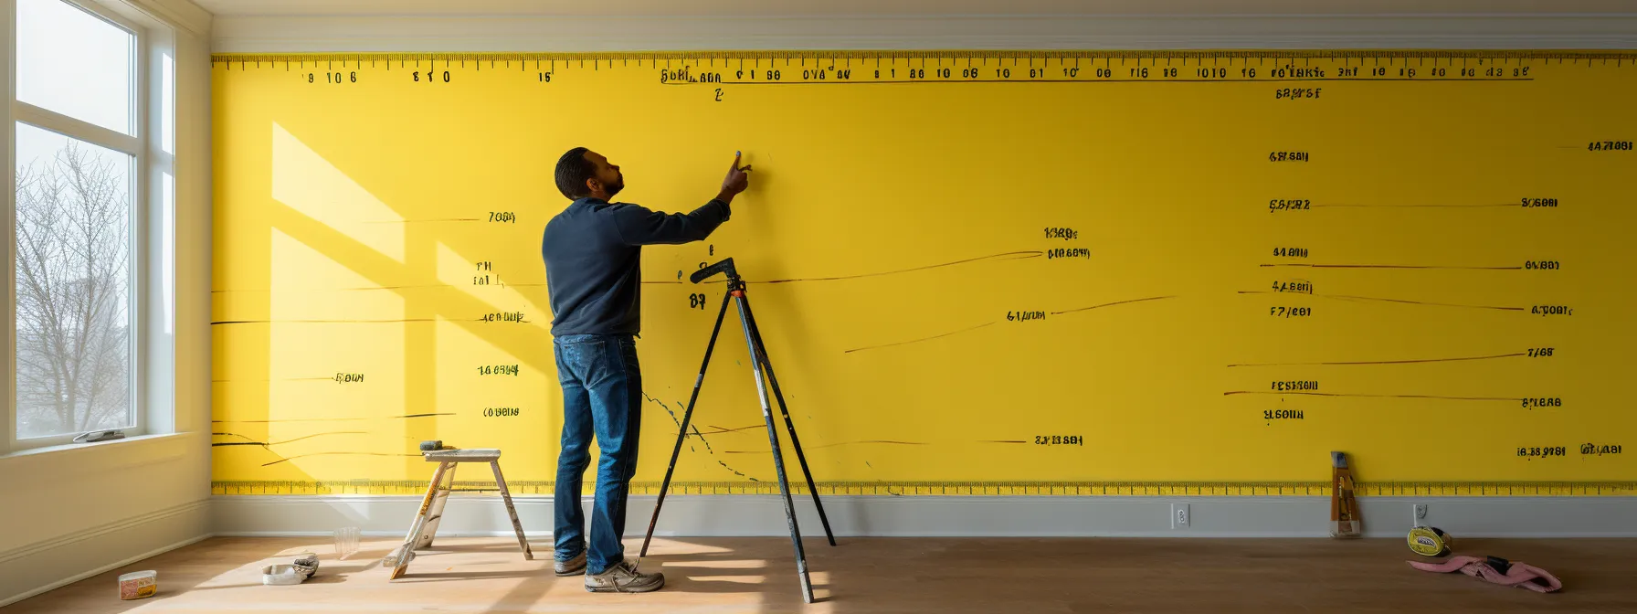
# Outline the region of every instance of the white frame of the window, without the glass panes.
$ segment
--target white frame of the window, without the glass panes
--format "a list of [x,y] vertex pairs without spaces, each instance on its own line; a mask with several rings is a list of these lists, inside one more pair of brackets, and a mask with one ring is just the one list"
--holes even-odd
[[[23,450],[108,445],[147,434],[175,432],[174,226],[175,219],[175,31],[120,0],[56,0],[134,33],[131,57],[131,128],[134,134],[97,126],[16,98],[16,0],[0,0],[7,33],[0,75],[11,95],[5,121],[7,206],[0,208],[0,457]],[[169,70],[170,79],[162,79]],[[169,108],[165,108],[169,102]],[[164,113],[169,111],[169,113]],[[74,444],[79,432],[16,437],[16,124],[59,133],[133,157],[129,211],[128,309],[131,316],[131,427],[126,439]],[[164,190],[170,177],[172,190]]]

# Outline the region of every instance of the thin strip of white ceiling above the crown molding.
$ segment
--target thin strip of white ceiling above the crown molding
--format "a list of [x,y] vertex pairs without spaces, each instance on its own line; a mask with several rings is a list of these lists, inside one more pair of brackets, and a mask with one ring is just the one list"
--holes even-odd
[[195,0],[218,16],[250,15],[1637,15],[1632,0]]

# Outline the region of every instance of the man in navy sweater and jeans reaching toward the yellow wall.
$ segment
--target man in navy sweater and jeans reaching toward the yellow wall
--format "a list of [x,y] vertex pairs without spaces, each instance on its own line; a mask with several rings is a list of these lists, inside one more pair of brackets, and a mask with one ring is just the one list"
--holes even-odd
[[[545,224],[540,254],[552,296],[552,337],[563,388],[561,455],[557,460],[555,571],[586,573],[586,591],[642,593],[665,575],[640,573],[625,560],[625,491],[637,473],[642,434],[640,332],[642,246],[683,244],[710,236],[728,203],[750,185],[750,165],[733,167],[722,192],[692,213],[656,213],[611,201],[625,187],[619,165],[586,147],[557,160],[557,190],[573,200]],[[591,540],[584,539],[579,485],[598,437],[598,490]]]

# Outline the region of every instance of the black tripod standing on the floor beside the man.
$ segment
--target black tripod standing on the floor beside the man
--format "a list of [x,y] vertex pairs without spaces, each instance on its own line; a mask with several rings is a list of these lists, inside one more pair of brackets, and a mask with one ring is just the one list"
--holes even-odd
[[[823,504],[818,503],[818,488],[814,486],[814,475],[807,470],[807,457],[802,454],[802,444],[796,439],[796,422],[791,421],[791,411],[784,406],[784,393],[779,391],[779,378],[773,375],[773,363],[768,360],[768,349],[761,344],[761,331],[756,327],[756,318],[750,313],[750,298],[745,296],[745,280],[738,277],[738,270],[733,269],[733,259],[725,259],[710,267],[694,272],[689,280],[692,283],[704,282],[715,273],[727,273],[727,293],[722,296],[722,311],[717,311],[715,327],[710,329],[710,344],[706,345],[706,359],[699,365],[699,377],[694,378],[692,396],[688,398],[688,411],[683,413],[683,429],[676,434],[676,447],[671,450],[671,465],[665,470],[665,481],[660,485],[660,499],[653,504],[653,517],[648,521],[648,534],[642,539],[642,555],[648,553],[648,540],[653,539],[653,526],[660,521],[660,508],[665,506],[665,491],[671,486],[671,473],[676,472],[676,457],[683,452],[683,439],[688,439],[688,422],[694,418],[694,403],[699,400],[699,388],[706,383],[706,368],[710,367],[710,352],[715,349],[717,334],[722,332],[722,319],[727,316],[727,305],[732,300],[738,305],[738,319],[745,329],[745,342],[750,345],[750,355],[755,362],[751,373],[756,380],[756,396],[761,400],[761,418],[768,422],[768,442],[773,445],[773,467],[779,473],[779,493],[784,496],[784,519],[791,526],[791,542],[796,545],[796,571],[802,581],[802,601],[814,603],[812,581],[807,576],[807,553],[802,550],[802,532],[796,524],[796,504],[791,499],[791,486],[784,478],[784,455],[779,454],[779,432],[773,426],[773,408],[768,404],[768,388],[773,388],[773,396],[779,401],[779,413],[784,414],[784,427],[791,432],[791,445],[796,447],[796,458],[802,465],[802,475],[807,476],[807,490],[814,496],[814,506],[818,508],[818,521],[823,522],[823,534],[830,539],[830,545],[835,545],[835,534],[830,532],[830,519],[825,517]],[[763,370],[766,370],[766,385],[763,383]]]

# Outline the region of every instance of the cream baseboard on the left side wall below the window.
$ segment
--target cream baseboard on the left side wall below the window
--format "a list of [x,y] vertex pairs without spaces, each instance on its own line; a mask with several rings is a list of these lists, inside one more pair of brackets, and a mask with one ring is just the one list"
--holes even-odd
[[[0,552],[0,607],[211,537],[213,501],[188,501]],[[11,527],[26,530],[26,527]],[[120,557],[87,570],[85,565]],[[164,586],[164,576],[159,578]],[[110,599],[118,588],[110,585]]]

